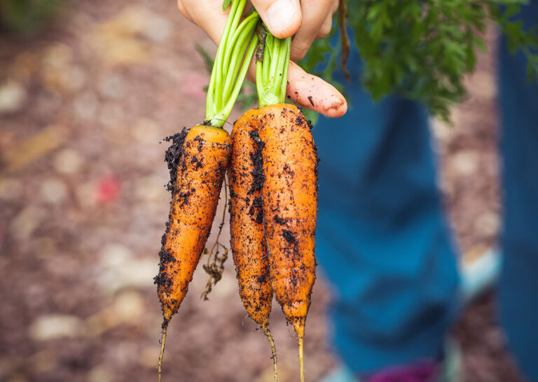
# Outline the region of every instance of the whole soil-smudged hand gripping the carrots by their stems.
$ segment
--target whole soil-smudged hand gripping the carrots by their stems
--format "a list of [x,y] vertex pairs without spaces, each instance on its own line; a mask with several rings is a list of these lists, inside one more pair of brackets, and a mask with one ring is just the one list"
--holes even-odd
[[[251,0],[270,32],[279,38],[295,34],[291,42],[291,59],[302,59],[316,38],[331,31],[332,14],[338,0]],[[226,24],[222,0],[178,0],[181,13],[200,26],[218,44]],[[254,63],[249,79],[254,80]],[[335,87],[319,77],[306,73],[290,62],[287,97],[298,106],[318,111],[328,117],[340,117],[347,111],[347,102]]]

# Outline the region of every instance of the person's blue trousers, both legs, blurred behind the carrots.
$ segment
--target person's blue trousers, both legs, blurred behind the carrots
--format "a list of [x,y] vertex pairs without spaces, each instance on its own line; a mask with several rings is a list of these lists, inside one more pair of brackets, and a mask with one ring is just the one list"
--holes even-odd
[[[538,354],[537,326],[528,333],[538,322],[532,302],[538,292],[538,92],[525,82],[523,58],[505,50],[501,55],[503,127],[509,132],[502,146],[502,283],[511,285],[502,288],[503,322],[523,368],[537,372],[530,359]],[[357,51],[348,68],[353,83],[341,73],[336,78],[345,84],[350,110],[336,120],[321,118],[313,130],[322,159],[317,261],[336,294],[333,346],[347,367],[364,373],[440,355],[458,309],[459,276],[427,114],[398,97],[373,103],[357,80]]]

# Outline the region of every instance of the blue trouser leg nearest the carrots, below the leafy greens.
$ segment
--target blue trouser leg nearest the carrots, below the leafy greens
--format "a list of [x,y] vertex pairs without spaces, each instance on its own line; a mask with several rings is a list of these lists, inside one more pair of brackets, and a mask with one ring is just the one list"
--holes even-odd
[[[360,70],[356,52],[349,67]],[[362,373],[440,355],[459,280],[427,114],[396,97],[374,104],[359,83],[346,90],[347,115],[313,130],[317,261],[335,292],[333,346]]]

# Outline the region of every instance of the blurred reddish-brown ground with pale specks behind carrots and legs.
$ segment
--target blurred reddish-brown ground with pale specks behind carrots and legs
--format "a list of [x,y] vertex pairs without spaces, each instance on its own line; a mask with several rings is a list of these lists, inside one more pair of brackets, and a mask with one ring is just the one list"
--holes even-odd
[[[156,380],[153,276],[170,202],[161,140],[203,119],[209,76],[195,43],[214,55],[175,1],[0,0],[0,381]],[[483,55],[455,125],[433,124],[446,207],[471,253],[494,246],[499,229],[493,71]],[[206,281],[200,267],[172,320],[165,380],[272,381],[232,262],[204,302]],[[338,363],[330,293],[319,275],[305,340],[312,381]],[[295,381],[296,339],[276,304],[271,329],[280,380]],[[521,381],[494,295],[464,312],[455,335],[467,381]]]

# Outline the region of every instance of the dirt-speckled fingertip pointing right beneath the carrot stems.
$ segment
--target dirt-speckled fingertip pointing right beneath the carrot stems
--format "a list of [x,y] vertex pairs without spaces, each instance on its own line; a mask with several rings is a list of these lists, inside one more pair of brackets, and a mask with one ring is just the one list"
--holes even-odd
[[327,117],[341,117],[347,111],[347,101],[336,87],[319,77],[306,73],[294,62],[289,63],[287,97],[294,104],[317,111]]

